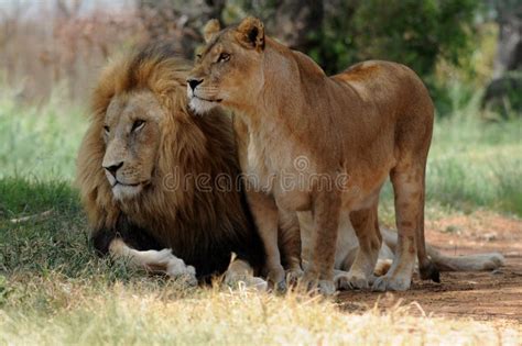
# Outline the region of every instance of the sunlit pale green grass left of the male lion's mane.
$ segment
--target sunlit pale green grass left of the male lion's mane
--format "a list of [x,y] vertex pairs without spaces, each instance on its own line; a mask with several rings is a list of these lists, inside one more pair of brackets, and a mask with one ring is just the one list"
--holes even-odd
[[58,100],[55,97],[41,107],[22,107],[15,98],[0,97],[0,178],[74,178],[87,118],[83,110]]

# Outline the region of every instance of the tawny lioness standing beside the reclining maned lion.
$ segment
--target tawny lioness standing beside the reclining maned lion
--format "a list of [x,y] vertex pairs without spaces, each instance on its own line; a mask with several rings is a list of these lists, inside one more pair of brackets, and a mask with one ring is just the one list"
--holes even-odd
[[[254,18],[222,31],[214,21],[205,36],[187,79],[189,104],[198,113],[222,105],[238,114],[240,165],[249,178],[247,197],[264,242],[269,280],[284,287],[280,216],[295,220],[297,211],[311,211],[315,231],[305,284],[335,290],[335,248],[345,217],[360,244],[345,280],[367,287],[381,246],[379,192],[390,177],[399,244],[390,270],[372,289],[409,289],[415,254],[421,277],[439,281],[424,243],[434,107],[421,79],[387,62],[327,77],[306,55],[267,37]],[[296,165],[300,159],[304,167]]]

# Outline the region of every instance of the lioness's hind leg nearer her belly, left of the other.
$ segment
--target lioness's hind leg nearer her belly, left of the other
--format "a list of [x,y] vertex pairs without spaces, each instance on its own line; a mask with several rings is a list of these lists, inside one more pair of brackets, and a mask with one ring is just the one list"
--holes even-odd
[[346,276],[337,276],[339,289],[368,289],[373,281],[373,269],[381,248],[381,233],[377,215],[378,203],[350,213],[350,221],[359,241],[356,259]]

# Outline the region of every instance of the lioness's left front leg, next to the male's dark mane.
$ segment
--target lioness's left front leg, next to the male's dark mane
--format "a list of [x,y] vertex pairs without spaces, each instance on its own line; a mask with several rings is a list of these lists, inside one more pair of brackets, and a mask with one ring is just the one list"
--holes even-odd
[[284,269],[278,247],[279,214],[275,201],[263,192],[247,189],[247,199],[267,253],[267,278],[278,291],[286,290]]

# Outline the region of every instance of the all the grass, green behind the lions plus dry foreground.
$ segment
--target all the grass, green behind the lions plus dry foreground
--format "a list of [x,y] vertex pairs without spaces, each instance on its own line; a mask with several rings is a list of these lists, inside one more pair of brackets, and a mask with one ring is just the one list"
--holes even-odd
[[[335,299],[187,289],[97,258],[72,185],[83,115],[0,98],[0,345],[520,343],[518,328],[414,305],[356,313]],[[521,216],[521,125],[483,123],[472,110],[437,122],[428,217],[480,208]],[[391,222],[389,186],[382,199]]]

